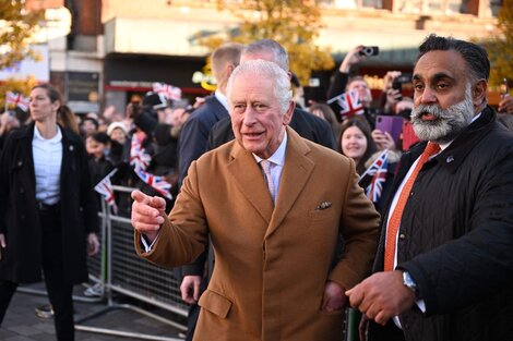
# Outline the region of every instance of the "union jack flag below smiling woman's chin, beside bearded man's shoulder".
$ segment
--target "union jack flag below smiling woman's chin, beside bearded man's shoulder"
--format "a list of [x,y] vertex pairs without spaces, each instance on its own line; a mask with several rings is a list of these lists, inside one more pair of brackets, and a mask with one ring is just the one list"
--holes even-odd
[[366,188],[366,195],[372,203],[378,203],[383,192],[387,159],[389,150],[385,149],[360,176],[359,184]]

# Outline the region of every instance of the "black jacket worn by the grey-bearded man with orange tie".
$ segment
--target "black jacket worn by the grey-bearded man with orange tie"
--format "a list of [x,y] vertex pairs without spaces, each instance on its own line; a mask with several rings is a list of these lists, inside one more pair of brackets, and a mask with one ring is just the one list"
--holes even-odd
[[[394,192],[425,147],[405,153]],[[374,272],[383,269],[384,230]],[[491,108],[419,172],[397,264],[427,307],[399,316],[407,341],[513,340],[513,134]],[[380,331],[372,324],[369,340],[384,340]]]

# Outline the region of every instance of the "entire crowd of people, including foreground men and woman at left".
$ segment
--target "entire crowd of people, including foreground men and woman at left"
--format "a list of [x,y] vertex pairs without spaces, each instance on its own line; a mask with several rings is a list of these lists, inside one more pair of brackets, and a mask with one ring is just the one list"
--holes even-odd
[[79,117],[36,86],[28,114],[0,119],[0,324],[43,270],[73,340],[70,290],[99,247],[93,188],[112,174],[139,190],[114,200],[138,254],[181,282],[188,341],[341,340],[349,305],[361,340],[513,338],[512,97],[488,106],[486,51],[432,35],[372,98],[354,72],[365,48],[308,103],[272,39],[214,50],[217,89],[193,106],[153,90]]

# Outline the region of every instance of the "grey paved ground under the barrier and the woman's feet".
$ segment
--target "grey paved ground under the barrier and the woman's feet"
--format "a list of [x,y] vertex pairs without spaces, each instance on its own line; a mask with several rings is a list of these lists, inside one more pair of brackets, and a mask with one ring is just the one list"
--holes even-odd
[[[43,291],[43,284],[25,287],[29,291]],[[84,288],[75,287],[75,295],[82,296]],[[46,296],[35,293],[16,292],[5,314],[0,328],[2,341],[55,341],[53,320],[36,317],[35,308],[48,303]],[[166,320],[175,320],[181,325],[183,318],[172,316],[169,312],[155,308],[147,304],[130,302],[129,299],[118,296],[109,305],[108,302],[75,301],[76,341],[121,341],[121,340],[181,340],[178,337],[179,329],[167,322],[147,317],[128,308],[114,308],[122,304],[135,305]],[[110,307],[109,309],[106,309]],[[97,313],[97,316],[83,320]],[[81,321],[83,320],[83,321]],[[108,332],[123,331],[127,336],[115,336],[81,330],[83,328],[104,328]],[[129,338],[129,336],[131,336]],[[155,338],[148,338],[155,336]]]

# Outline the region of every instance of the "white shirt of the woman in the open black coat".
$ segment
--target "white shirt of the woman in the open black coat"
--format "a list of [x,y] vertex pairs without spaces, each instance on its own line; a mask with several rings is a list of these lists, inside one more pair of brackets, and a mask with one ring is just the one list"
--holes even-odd
[[34,126],[32,139],[34,173],[36,174],[36,200],[55,205],[60,199],[60,171],[62,165],[62,133],[57,126],[57,134],[51,138],[43,137]]

